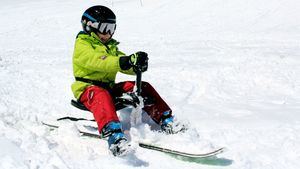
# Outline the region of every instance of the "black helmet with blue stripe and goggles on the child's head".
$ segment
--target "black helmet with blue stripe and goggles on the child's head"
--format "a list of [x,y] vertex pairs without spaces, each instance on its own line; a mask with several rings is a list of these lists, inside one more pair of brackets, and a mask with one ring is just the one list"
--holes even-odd
[[83,13],[81,23],[87,33],[100,32],[113,35],[116,29],[116,15],[105,6],[92,6]]

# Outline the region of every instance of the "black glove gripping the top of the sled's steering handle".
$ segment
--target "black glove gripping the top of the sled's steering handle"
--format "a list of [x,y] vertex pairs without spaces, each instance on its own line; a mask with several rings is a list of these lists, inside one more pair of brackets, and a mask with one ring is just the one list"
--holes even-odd
[[122,70],[133,68],[134,72],[145,72],[148,69],[148,54],[145,52],[137,52],[130,56],[120,57],[119,64]]

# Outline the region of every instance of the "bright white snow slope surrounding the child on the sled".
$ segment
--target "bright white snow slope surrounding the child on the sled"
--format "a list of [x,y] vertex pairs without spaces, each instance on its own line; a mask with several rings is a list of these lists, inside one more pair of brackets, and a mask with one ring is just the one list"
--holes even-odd
[[[116,158],[105,141],[80,137],[74,125],[49,131],[41,124],[90,115],[69,102],[80,17],[96,4],[115,11],[121,50],[149,53],[143,80],[192,128],[162,136],[143,125],[132,137],[227,152],[208,161],[145,149]],[[1,0],[0,18],[1,169],[300,166],[300,1]]]

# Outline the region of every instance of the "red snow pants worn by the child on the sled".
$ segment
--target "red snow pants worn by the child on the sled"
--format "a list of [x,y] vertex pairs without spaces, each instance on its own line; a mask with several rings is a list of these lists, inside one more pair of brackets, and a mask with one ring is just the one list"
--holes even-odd
[[[115,84],[111,89],[99,86],[88,87],[80,97],[80,102],[91,111],[98,124],[101,133],[103,127],[111,121],[119,121],[116,113],[114,97],[120,97],[123,93],[132,92],[134,82],[126,81]],[[159,123],[165,111],[171,111],[166,102],[159,96],[156,90],[147,82],[142,82],[142,97],[154,99],[154,104],[145,106],[143,110],[156,122]]]

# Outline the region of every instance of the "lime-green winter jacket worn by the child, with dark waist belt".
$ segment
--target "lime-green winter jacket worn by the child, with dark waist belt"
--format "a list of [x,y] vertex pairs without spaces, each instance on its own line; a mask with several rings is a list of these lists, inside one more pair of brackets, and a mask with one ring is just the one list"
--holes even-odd
[[[133,75],[131,69],[123,71],[119,65],[119,57],[125,54],[118,50],[114,39],[103,44],[95,33],[91,35],[80,32],[76,38],[73,54],[73,74],[90,80],[97,80],[115,84],[117,72]],[[75,81],[71,88],[76,99],[79,99],[83,91],[92,84]]]

